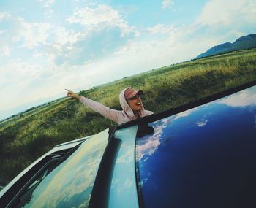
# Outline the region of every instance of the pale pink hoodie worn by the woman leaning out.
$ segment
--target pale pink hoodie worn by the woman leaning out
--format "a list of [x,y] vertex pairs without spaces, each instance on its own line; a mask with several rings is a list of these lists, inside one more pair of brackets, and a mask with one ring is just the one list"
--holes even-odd
[[[127,104],[127,101],[124,98],[125,90],[127,90],[127,88],[122,90],[121,93],[119,94],[119,102],[123,109],[122,111],[116,110],[116,109],[110,109],[109,107],[105,107],[105,105],[100,104],[97,101],[87,99],[84,96],[80,98],[80,102],[82,102],[83,104],[86,104],[86,106],[90,107],[95,112],[99,112],[99,114],[103,115],[106,118],[109,118],[110,120],[113,120],[118,124],[125,123],[130,120],[135,120],[138,118],[137,116],[134,115],[132,109],[129,107],[129,104]],[[153,112],[144,109],[142,103],[141,103],[141,107],[142,109],[139,111],[140,117],[153,114]]]

